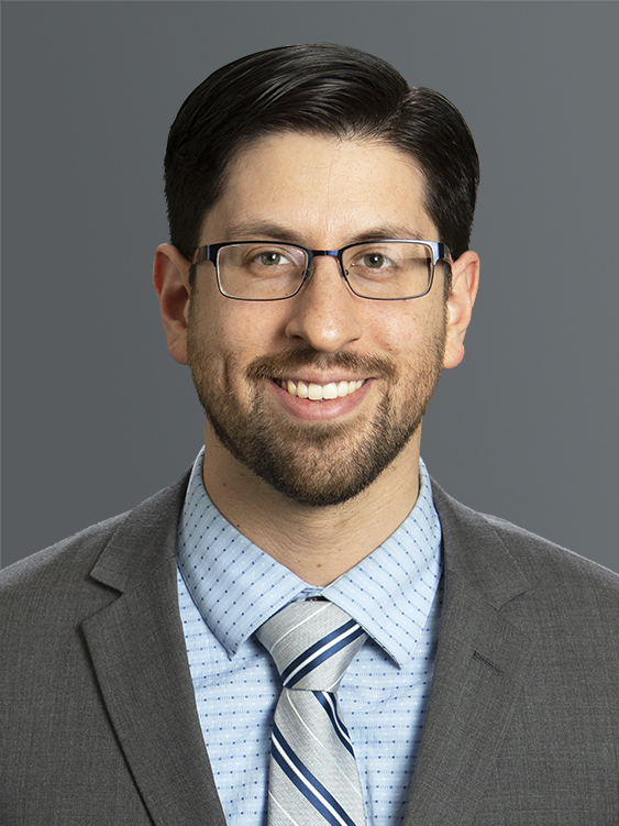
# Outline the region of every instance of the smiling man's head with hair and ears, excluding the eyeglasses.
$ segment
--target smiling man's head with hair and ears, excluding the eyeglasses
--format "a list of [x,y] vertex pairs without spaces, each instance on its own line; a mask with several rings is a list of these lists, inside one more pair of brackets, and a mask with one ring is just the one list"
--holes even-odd
[[[414,459],[441,370],[463,353],[477,174],[451,103],[356,49],[251,55],[189,96],[166,154],[173,245],[157,253],[154,278],[213,452],[223,445],[261,484],[310,506],[353,498],[400,454]],[[261,304],[221,295],[209,262],[189,266],[198,246],[257,238],[310,250],[442,242],[457,258],[453,287],[441,265],[428,295],[372,300],[320,257],[298,294]]]

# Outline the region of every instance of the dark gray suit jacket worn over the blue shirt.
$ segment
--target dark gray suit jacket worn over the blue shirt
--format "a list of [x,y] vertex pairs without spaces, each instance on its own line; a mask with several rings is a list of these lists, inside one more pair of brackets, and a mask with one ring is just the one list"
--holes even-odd
[[[0,577],[0,823],[224,826],[178,616],[187,477]],[[619,577],[447,497],[406,826],[619,823]]]

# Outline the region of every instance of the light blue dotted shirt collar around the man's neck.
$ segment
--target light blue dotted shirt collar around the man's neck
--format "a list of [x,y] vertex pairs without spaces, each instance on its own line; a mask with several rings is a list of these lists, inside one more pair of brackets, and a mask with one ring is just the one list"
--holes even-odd
[[441,577],[441,524],[419,462],[417,503],[382,546],[324,588],[308,585],[240,533],[212,504],[198,454],[177,532],[178,568],[198,610],[234,657],[294,599],[324,596],[352,616],[401,668],[423,630]]

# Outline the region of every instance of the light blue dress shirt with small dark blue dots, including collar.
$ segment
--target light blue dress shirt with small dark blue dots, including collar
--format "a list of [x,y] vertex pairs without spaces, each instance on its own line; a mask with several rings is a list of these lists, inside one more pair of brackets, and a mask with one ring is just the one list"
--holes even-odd
[[324,588],[308,585],[214,507],[198,455],[178,526],[178,596],[196,704],[229,826],[266,826],[277,670],[254,631],[292,599],[322,595],[368,634],[340,686],[368,826],[401,824],[436,652],[441,525],[420,461],[400,527]]

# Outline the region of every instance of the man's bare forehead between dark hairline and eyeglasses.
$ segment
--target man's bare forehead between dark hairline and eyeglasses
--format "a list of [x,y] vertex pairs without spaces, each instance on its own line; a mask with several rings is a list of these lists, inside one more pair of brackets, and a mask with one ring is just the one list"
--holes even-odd
[[424,203],[423,174],[384,141],[285,132],[233,157],[202,243],[257,238],[269,227],[269,236],[285,231],[317,249],[344,245],[373,228],[380,235],[439,240]]

